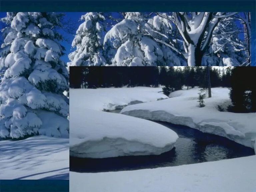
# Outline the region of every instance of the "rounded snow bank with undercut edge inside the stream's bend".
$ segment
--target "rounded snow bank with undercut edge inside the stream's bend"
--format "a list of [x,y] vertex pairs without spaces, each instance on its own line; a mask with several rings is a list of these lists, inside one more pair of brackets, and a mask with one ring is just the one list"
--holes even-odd
[[72,106],[69,120],[69,150],[76,157],[159,155],[171,150],[178,139],[163,125],[121,114]]

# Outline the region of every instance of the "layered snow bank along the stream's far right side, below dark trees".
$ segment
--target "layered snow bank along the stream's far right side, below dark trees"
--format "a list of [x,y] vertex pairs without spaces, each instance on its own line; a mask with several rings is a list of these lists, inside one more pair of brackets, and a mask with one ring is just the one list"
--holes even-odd
[[175,91],[169,99],[127,106],[120,113],[189,126],[254,148],[256,114],[218,111],[217,105],[230,104],[227,88],[213,88],[212,98],[206,98],[206,106],[200,108],[197,102],[199,92],[197,88]]

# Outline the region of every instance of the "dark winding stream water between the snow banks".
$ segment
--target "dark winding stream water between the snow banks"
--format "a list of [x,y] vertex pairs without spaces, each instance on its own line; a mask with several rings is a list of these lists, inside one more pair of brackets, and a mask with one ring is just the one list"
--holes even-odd
[[[119,113],[121,110],[111,111]],[[224,137],[202,133],[186,126],[158,122],[179,135],[175,147],[161,155],[104,159],[70,157],[70,171],[108,172],[177,166],[254,155],[254,150]]]

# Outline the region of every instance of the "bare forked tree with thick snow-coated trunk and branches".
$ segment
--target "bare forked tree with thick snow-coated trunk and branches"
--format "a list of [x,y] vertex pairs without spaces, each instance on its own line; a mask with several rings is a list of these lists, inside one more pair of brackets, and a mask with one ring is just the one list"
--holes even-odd
[[184,52],[174,49],[183,55],[188,66],[201,66],[202,57],[209,48],[214,28],[223,18],[236,15],[238,12],[173,12],[171,16],[156,14],[171,20],[178,28],[183,39]]

